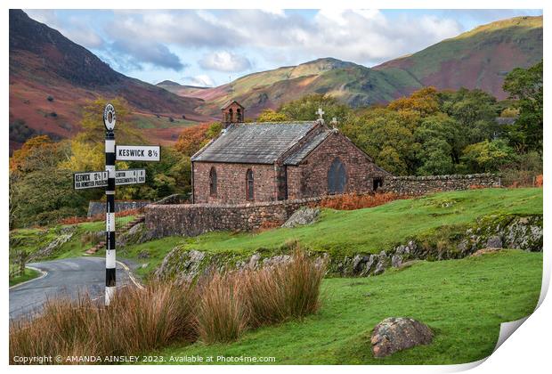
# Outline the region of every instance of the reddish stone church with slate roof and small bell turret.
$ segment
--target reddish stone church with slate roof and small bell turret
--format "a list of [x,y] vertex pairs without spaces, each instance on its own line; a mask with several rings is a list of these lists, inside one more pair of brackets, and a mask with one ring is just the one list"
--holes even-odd
[[245,108],[235,101],[222,111],[223,131],[191,158],[193,203],[369,192],[390,176],[322,119],[244,123]]

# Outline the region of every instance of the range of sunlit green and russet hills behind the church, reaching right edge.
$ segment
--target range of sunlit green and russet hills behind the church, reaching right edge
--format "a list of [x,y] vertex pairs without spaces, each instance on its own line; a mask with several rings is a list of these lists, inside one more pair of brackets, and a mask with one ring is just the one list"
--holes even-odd
[[361,106],[389,102],[423,85],[434,85],[439,89],[481,88],[504,99],[502,83],[507,72],[540,61],[542,40],[542,17],[517,17],[480,26],[371,69],[324,58],[250,74],[231,85],[179,94],[205,100],[200,110],[218,115],[232,89],[233,97],[248,109],[248,117],[307,93],[329,93]]

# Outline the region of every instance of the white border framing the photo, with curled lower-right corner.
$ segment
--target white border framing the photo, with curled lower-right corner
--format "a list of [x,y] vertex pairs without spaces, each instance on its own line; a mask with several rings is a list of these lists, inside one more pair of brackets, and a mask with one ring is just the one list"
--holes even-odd
[[[268,3],[265,3],[268,4]],[[551,5],[549,5],[550,2],[546,1],[536,1],[536,0],[525,0],[525,1],[519,1],[519,0],[502,0],[502,1],[489,1],[489,0],[449,0],[446,3],[442,1],[435,1],[435,0],[421,0],[417,1],[415,4],[412,2],[406,1],[406,0],[387,0],[387,1],[353,1],[353,0],[341,0],[339,2],[333,2],[333,3],[324,3],[322,4],[320,1],[313,1],[313,0],[304,0],[304,1],[290,1],[290,0],[282,0],[280,2],[271,3],[270,5],[265,5],[264,7],[278,7],[278,8],[288,8],[288,9],[317,9],[320,7],[324,8],[381,8],[381,9],[409,9],[409,8],[421,8],[421,9],[515,9],[515,8],[538,8],[538,9],[544,9],[545,14],[545,28],[544,28],[544,37],[545,37],[545,43],[544,43],[544,61],[545,61],[545,70],[547,73],[545,73],[545,82],[547,82],[545,85],[548,87],[547,90],[545,90],[545,112],[547,115],[546,118],[546,124],[544,129],[544,149],[545,149],[545,187],[544,187],[544,206],[549,207],[549,201],[548,201],[548,195],[549,195],[549,165],[550,165],[550,151],[548,150],[548,146],[550,145],[550,121],[548,121],[548,112],[550,110],[550,94],[549,87],[550,85],[550,78],[549,78],[549,41],[550,38],[550,31],[548,28],[548,8],[550,8]],[[7,6],[6,6],[7,5]],[[190,9],[213,9],[213,8],[249,8],[249,9],[256,9],[263,7],[258,2],[249,0],[235,0],[229,3],[228,1],[222,1],[222,0],[203,0],[203,1],[188,1],[188,2],[182,2],[182,1],[166,1],[166,0],[158,0],[156,2],[143,2],[143,1],[129,1],[129,0],[123,0],[118,2],[106,1],[106,0],[97,0],[97,1],[81,1],[81,2],[74,2],[74,1],[68,1],[68,0],[53,0],[49,1],[47,3],[41,2],[41,1],[29,1],[29,0],[23,0],[19,2],[15,1],[8,1],[7,4],[4,5],[4,12],[1,13],[1,20],[2,25],[4,25],[4,37],[2,38],[2,51],[4,51],[4,59],[2,60],[2,63],[4,64],[4,92],[3,92],[3,98],[4,98],[4,108],[7,110],[4,111],[4,113],[9,112],[9,101],[8,101],[8,95],[9,90],[6,89],[8,86],[9,81],[9,69],[8,69],[8,31],[7,31],[7,25],[8,22],[8,12],[7,8],[36,8],[36,9],[45,9],[45,8],[68,8],[68,9],[78,9],[78,8],[103,8],[103,9],[176,9],[176,8],[190,8]],[[548,41],[548,45],[547,45]],[[4,114],[5,115],[5,114]],[[4,127],[4,131],[6,131]],[[4,142],[4,175],[7,175],[7,149],[9,148],[8,144],[8,137],[4,136],[2,137]],[[8,191],[8,178],[2,179],[2,189],[4,190],[4,199],[3,199],[3,210],[4,211],[4,248],[7,248],[8,246],[8,238],[9,238],[9,232],[7,230],[8,227],[8,201],[6,199],[7,197],[7,191]],[[544,228],[545,228],[545,248],[549,248],[550,244],[550,235],[549,235],[549,225],[548,225],[548,215],[545,214],[544,219]],[[508,338],[502,346],[499,346],[499,349],[492,354],[486,361],[482,362],[476,362],[472,364],[467,365],[461,365],[461,366],[340,366],[340,367],[332,367],[332,366],[310,366],[308,368],[302,368],[301,370],[316,370],[318,373],[324,373],[324,372],[333,372],[334,370],[340,370],[345,372],[370,372],[370,373],[377,373],[377,372],[404,372],[404,373],[427,373],[427,372],[450,372],[450,371],[456,371],[456,370],[466,370],[468,369],[468,366],[477,365],[479,363],[482,363],[479,366],[476,366],[473,372],[477,373],[495,373],[495,372],[543,372],[545,368],[549,368],[549,336],[552,332],[551,329],[551,323],[549,316],[552,315],[552,305],[550,304],[549,297],[544,298],[546,295],[546,292],[548,290],[549,280],[550,280],[550,267],[551,267],[551,261],[550,261],[550,255],[548,253],[548,250],[545,249],[545,255],[544,255],[544,266],[545,266],[545,272],[543,274],[543,289],[541,293],[541,304],[540,307],[537,309],[535,313],[533,313],[524,323],[523,325],[515,331],[515,334],[513,337]],[[4,265],[4,279],[7,278],[7,266]],[[4,289],[4,325],[3,325],[3,341],[2,341],[2,347],[1,353],[4,356],[4,364],[7,362],[7,355],[8,355],[8,346],[7,346],[7,335],[8,335],[8,291],[7,289]],[[10,371],[21,371],[21,372],[36,372],[36,367],[9,367]],[[117,370],[119,373],[125,373],[125,372],[135,372],[135,371],[143,371],[143,372],[150,372],[152,368],[150,367],[143,367],[143,366],[116,366],[116,367],[84,367],[84,368],[74,368],[74,367],[41,367],[40,370],[44,370],[45,372],[53,372],[53,371],[67,371],[67,372],[74,372],[75,370],[83,370],[83,371],[104,371],[104,370]],[[263,372],[278,372],[282,370],[281,367],[275,367],[275,366],[261,366],[261,367],[242,367],[242,366],[217,366],[217,367],[204,367],[204,366],[188,366],[186,368],[182,368],[179,366],[176,367],[164,367],[162,370],[169,370],[169,371],[175,371],[175,372],[183,372],[183,370],[186,370],[186,372],[211,372],[211,371],[224,371],[228,373],[239,373],[241,374],[243,370],[248,371],[263,371]],[[298,370],[297,367],[286,367],[285,370]]]

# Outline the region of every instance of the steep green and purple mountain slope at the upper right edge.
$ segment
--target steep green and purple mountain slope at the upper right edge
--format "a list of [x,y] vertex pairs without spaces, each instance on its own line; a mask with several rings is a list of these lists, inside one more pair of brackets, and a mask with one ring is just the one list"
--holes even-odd
[[388,61],[375,70],[407,73],[439,89],[480,88],[499,99],[507,72],[542,59],[542,16],[499,20]]

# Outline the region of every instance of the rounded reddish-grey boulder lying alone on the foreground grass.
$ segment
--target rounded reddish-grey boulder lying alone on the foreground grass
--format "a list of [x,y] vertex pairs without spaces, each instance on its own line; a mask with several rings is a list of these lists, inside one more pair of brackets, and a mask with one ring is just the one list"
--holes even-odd
[[391,317],[377,323],[370,340],[374,357],[385,357],[413,346],[429,344],[433,337],[433,331],[420,321]]

